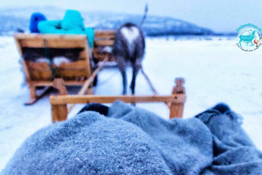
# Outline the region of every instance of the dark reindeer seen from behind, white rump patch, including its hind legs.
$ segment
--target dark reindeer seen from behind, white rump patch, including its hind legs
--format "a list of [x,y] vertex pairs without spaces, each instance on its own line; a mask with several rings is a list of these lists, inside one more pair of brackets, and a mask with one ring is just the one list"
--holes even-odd
[[141,29],[132,23],[122,25],[115,34],[113,54],[123,77],[123,95],[127,94],[126,67],[130,62],[133,77],[130,88],[135,93],[135,81],[145,53],[145,39]]

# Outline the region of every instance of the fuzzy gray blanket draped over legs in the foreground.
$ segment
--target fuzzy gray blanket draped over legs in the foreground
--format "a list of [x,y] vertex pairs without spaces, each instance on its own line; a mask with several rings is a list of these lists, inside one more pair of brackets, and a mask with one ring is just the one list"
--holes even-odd
[[262,174],[262,154],[230,110],[164,120],[116,101],[40,129],[1,174]]

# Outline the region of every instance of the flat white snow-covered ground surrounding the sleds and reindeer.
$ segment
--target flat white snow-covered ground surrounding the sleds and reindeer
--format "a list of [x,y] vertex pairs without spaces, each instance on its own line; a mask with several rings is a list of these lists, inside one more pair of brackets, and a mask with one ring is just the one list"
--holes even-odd
[[[261,48],[262,49],[262,48]],[[244,118],[243,128],[262,150],[262,50],[245,53],[236,46],[236,38],[196,37],[147,38],[144,70],[160,94],[170,94],[175,77],[184,77],[187,102],[184,118],[226,102]],[[20,144],[36,130],[51,123],[49,95],[36,104],[24,106],[29,90],[21,88],[19,55],[12,37],[0,37],[0,171]],[[131,81],[131,70],[128,70]],[[137,95],[152,94],[140,73]],[[70,88],[73,92],[75,88]],[[99,74],[97,95],[120,95],[121,75],[116,68]],[[56,93],[55,91],[51,93]],[[73,116],[83,105],[77,105]],[[168,118],[162,103],[137,104]]]

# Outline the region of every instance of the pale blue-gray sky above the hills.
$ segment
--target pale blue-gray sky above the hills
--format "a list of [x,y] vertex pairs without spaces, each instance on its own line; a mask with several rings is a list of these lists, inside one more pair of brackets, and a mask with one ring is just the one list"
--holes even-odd
[[58,6],[85,11],[111,11],[175,17],[214,31],[236,31],[241,24],[262,28],[262,0],[0,0],[0,8],[19,6]]

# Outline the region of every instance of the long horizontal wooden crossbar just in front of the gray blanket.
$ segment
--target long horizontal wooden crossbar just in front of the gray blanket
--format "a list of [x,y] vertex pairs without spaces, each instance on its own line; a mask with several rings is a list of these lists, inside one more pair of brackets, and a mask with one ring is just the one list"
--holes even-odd
[[142,102],[173,102],[185,103],[185,94],[169,95],[169,96],[99,96],[99,95],[59,95],[50,96],[51,104],[68,104],[68,103],[113,103],[116,100],[121,100],[126,103],[142,103]]

